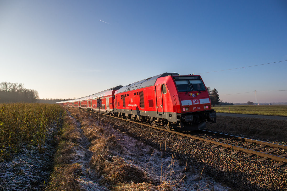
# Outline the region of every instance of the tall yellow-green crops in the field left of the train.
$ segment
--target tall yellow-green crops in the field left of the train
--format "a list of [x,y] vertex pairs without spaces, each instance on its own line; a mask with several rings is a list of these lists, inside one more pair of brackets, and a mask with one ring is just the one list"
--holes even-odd
[[59,126],[63,110],[56,104],[0,104],[1,160],[21,149],[21,145],[37,145],[42,152],[49,125]]

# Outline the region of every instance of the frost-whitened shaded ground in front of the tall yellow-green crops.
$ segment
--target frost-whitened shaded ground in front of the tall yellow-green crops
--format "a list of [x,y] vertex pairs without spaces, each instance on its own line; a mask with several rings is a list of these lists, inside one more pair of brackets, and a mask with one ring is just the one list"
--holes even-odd
[[0,190],[42,190],[46,187],[57,142],[57,126],[51,125],[46,132],[45,144],[38,146],[22,143],[11,160],[0,162]]

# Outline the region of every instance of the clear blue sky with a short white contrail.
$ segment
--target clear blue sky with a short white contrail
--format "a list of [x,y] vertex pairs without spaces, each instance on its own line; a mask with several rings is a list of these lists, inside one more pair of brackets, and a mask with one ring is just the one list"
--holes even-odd
[[286,61],[212,72],[283,60],[287,1],[0,0],[0,82],[41,99],[177,72],[202,73],[223,101],[255,102],[257,90],[259,103],[287,102],[272,91],[287,90]]

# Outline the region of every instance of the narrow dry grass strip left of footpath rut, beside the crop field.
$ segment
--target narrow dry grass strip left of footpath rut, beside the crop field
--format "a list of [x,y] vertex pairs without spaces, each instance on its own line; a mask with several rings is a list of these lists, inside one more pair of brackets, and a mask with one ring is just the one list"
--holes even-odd
[[83,140],[77,124],[65,116],[47,190],[83,190],[77,181],[77,178],[84,174],[83,165],[78,163],[83,161],[86,153],[81,143]]

